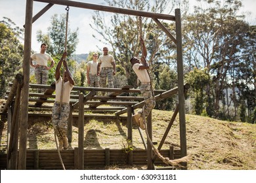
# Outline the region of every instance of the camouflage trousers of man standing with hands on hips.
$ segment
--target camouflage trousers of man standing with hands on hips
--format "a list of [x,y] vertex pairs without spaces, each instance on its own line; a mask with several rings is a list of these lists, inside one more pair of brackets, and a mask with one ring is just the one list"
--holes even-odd
[[[41,65],[35,68],[35,79],[37,80],[37,84],[47,84],[49,78],[49,71],[45,68],[45,66]],[[44,93],[45,89],[38,88],[38,93]]]

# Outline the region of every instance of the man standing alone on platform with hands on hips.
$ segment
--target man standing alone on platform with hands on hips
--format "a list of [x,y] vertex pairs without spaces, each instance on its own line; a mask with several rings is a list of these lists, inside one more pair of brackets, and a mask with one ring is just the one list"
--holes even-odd
[[[30,65],[35,68],[35,79],[37,80],[37,84],[47,84],[49,70],[54,65],[54,60],[51,56],[45,53],[47,49],[47,45],[45,43],[41,44],[41,52],[35,53],[30,58]],[[35,64],[33,64],[35,61]],[[48,61],[51,61],[50,67],[48,67]],[[37,90],[39,93],[45,92],[45,89],[39,88]]]

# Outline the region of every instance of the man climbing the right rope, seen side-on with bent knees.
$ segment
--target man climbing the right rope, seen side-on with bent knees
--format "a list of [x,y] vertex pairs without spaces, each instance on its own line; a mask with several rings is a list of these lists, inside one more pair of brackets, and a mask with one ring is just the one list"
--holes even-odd
[[133,115],[133,120],[137,125],[139,125],[141,129],[145,129],[144,123],[146,123],[146,117],[155,107],[156,101],[151,86],[150,75],[147,71],[149,67],[146,63],[146,47],[144,45],[143,39],[140,39],[140,42],[143,46],[143,56],[140,59],[137,57],[133,57],[130,59],[130,62],[133,65],[133,71],[135,71],[136,75],[140,80],[140,92],[144,97],[144,106],[137,114]]

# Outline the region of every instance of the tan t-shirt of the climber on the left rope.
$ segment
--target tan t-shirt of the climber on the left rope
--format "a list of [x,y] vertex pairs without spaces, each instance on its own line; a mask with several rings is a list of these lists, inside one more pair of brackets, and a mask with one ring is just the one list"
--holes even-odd
[[[62,103],[70,103],[70,92],[72,88],[74,87],[73,84],[70,84],[70,82],[64,82],[64,91],[63,91],[63,97],[62,97]],[[56,102],[60,102],[60,95],[61,95],[61,90],[62,90],[62,77],[58,78],[56,81]]]

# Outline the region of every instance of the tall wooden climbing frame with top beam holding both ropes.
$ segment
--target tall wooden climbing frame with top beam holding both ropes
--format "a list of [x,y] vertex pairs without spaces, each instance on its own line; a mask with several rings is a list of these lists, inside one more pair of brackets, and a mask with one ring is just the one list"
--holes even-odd
[[[183,61],[182,61],[182,35],[181,35],[181,10],[175,9],[175,16],[169,14],[158,14],[152,12],[144,12],[140,10],[131,10],[126,8],[116,8],[103,5],[95,5],[90,3],[81,3],[77,1],[68,0],[34,0],[43,3],[49,3],[43,10],[41,10],[36,17],[33,18],[33,0],[26,1],[26,20],[25,20],[25,37],[24,37],[24,63],[23,63],[23,88],[22,88],[22,111],[20,113],[20,149],[18,152],[18,169],[26,169],[26,142],[27,142],[27,129],[28,129],[28,104],[29,104],[29,88],[30,88],[30,54],[31,54],[31,39],[32,39],[32,23],[41,15],[43,15],[49,8],[54,4],[56,5],[66,5],[69,7],[87,8],[92,10],[100,10],[106,12],[114,12],[119,14],[129,14],[133,16],[142,16],[153,18],[153,20],[158,24],[161,29],[177,44],[177,73],[178,73],[178,90],[179,93],[179,125],[180,125],[180,139],[181,139],[181,157],[186,156],[186,120],[184,112],[184,76],[183,76]],[[171,33],[158,21],[158,18],[163,20],[175,21],[176,25],[176,39],[171,35]],[[79,124],[83,125],[84,114],[84,96],[79,95]],[[43,101],[39,101],[43,103]],[[140,103],[142,105],[142,103]],[[138,105],[137,107],[139,107]],[[129,110],[127,114],[127,124],[131,125],[131,108],[127,107]],[[70,122],[69,122],[70,124]],[[151,127],[151,116],[148,117],[148,133],[152,135]],[[129,132],[129,136],[132,133]],[[79,135],[80,137],[80,135]],[[80,138],[83,138],[82,136]],[[79,139],[80,139],[79,138]],[[152,138],[151,138],[152,139]],[[81,144],[81,142],[79,142]],[[149,143],[148,143],[149,144]],[[81,152],[79,155],[82,156]],[[83,156],[81,157],[83,158]],[[83,160],[83,159],[81,159]],[[83,162],[83,161],[81,161]],[[79,166],[83,169],[83,165]],[[148,146],[148,169],[153,169],[152,165],[152,147]]]

